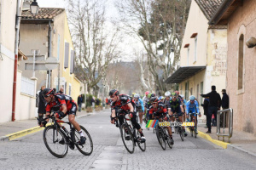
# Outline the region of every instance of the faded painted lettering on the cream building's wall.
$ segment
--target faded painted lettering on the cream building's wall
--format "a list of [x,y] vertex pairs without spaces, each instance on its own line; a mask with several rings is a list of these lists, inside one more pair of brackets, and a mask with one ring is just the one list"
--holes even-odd
[[225,75],[227,70],[227,46],[214,43],[212,75]]

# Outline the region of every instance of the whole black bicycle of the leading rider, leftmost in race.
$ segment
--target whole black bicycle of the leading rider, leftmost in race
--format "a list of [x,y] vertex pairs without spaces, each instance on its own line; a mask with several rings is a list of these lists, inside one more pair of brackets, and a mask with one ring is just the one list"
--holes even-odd
[[[90,133],[80,125],[81,130],[85,136],[85,144],[80,144],[80,134],[70,122],[64,122],[61,120],[56,120],[54,114],[44,118],[51,119],[54,122],[44,128],[44,144],[49,150],[49,152],[58,158],[63,158],[67,156],[68,147],[74,150],[75,147],[84,155],[90,156],[93,150],[92,139],[90,138]],[[70,127],[70,133],[67,131],[66,127],[61,127],[59,123],[67,123]]]

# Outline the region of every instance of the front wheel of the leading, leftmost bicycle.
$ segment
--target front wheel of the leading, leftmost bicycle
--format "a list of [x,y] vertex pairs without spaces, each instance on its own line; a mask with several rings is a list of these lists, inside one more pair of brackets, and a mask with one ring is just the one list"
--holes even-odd
[[[66,135],[60,129],[56,130],[54,126],[44,128],[44,144],[49,152],[58,158],[63,158],[67,155],[68,145]],[[60,144],[60,141],[63,144]]]

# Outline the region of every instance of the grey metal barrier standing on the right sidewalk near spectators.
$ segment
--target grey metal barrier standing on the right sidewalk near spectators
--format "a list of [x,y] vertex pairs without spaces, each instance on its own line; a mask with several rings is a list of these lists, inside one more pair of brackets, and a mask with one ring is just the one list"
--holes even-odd
[[[222,129],[222,133],[220,133],[220,116],[221,115],[224,115],[224,120],[222,122],[223,124],[223,129]],[[229,128],[229,133],[225,133],[225,118],[226,118],[226,114],[228,114],[228,128]],[[222,111],[218,111],[217,112],[217,131],[216,131],[216,134],[218,136],[218,140],[219,140],[219,137],[223,137],[223,141],[224,141],[224,137],[228,137],[229,138],[229,142],[230,142],[230,138],[232,137],[232,133],[233,133],[233,109],[230,108],[230,109],[225,109],[225,110],[222,110]]]

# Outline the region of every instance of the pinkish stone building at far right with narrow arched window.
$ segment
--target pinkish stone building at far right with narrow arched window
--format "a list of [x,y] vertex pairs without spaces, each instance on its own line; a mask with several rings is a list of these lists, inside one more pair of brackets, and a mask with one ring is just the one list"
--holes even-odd
[[233,109],[233,126],[256,134],[256,40],[254,0],[224,0],[209,20],[212,26],[228,26],[227,94]]

